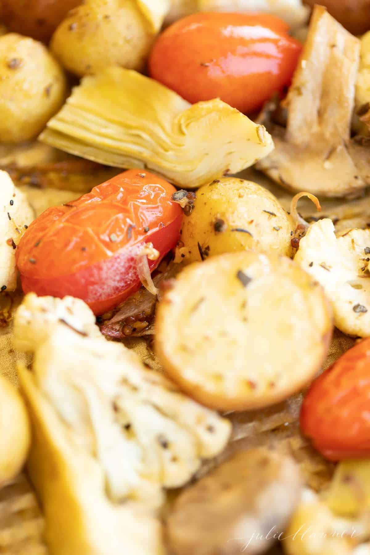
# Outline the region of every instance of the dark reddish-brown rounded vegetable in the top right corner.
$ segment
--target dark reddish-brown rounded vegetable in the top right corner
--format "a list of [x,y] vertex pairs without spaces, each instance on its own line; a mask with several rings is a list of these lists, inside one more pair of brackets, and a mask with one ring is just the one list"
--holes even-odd
[[315,4],[326,6],[328,12],[354,35],[370,29],[369,0],[304,0],[304,3],[312,7]]

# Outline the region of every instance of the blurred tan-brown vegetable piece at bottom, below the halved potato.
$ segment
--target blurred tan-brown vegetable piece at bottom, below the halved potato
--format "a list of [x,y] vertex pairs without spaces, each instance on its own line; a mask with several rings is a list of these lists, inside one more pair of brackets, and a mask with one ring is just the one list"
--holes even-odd
[[266,448],[237,453],[176,499],[167,521],[170,552],[264,553],[285,529],[300,486],[290,457]]

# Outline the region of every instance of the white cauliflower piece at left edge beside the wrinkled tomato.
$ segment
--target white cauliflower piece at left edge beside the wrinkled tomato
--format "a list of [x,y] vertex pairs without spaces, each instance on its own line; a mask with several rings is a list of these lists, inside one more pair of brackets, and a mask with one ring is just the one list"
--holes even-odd
[[0,170],[0,287],[14,291],[17,287],[16,248],[24,226],[34,214],[26,196],[14,186],[9,174]]

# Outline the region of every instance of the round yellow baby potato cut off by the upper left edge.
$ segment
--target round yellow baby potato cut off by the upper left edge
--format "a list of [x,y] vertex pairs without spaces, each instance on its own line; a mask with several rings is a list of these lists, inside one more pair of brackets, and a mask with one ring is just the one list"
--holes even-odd
[[63,70],[42,43],[17,33],[0,37],[0,142],[36,138],[66,94]]

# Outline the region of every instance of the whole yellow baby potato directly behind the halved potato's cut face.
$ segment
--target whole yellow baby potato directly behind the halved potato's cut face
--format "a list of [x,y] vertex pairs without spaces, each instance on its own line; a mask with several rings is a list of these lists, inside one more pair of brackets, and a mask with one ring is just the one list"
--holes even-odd
[[194,209],[184,217],[185,262],[245,249],[291,256],[294,223],[267,189],[237,178],[202,186]]

